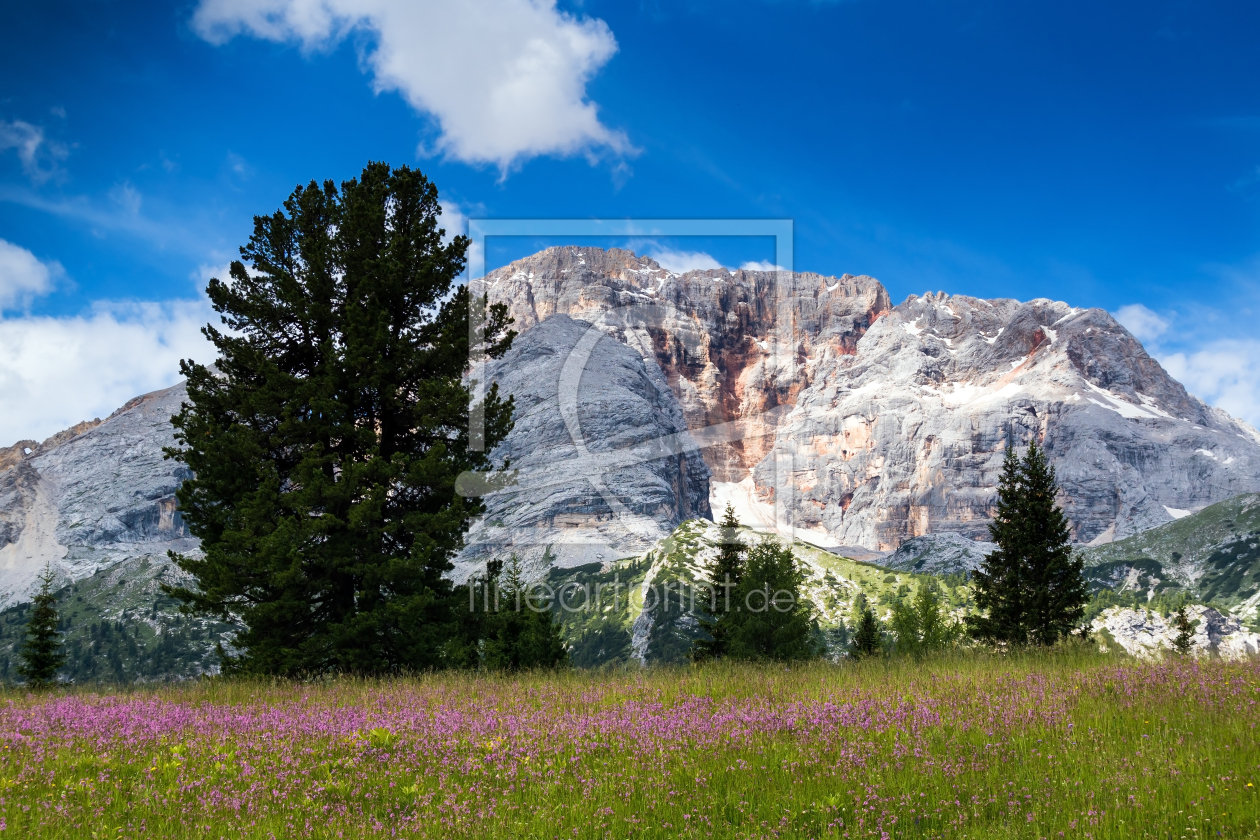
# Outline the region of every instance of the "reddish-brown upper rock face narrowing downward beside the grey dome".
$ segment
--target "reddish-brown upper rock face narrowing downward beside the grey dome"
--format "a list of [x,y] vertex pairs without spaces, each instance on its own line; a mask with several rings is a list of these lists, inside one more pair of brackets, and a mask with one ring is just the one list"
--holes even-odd
[[[629,251],[548,248],[486,275],[515,329],[556,312],[598,324],[655,361],[692,429],[735,423],[704,450],[716,481],[741,481],[770,451],[776,419],[820,360],[853,355],[890,307],[869,277],[712,270],[677,275]],[[775,416],[781,417],[781,413]]]

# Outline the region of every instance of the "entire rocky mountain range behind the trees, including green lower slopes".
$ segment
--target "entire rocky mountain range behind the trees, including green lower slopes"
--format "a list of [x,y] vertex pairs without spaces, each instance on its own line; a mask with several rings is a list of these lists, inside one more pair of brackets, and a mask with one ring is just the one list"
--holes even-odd
[[[514,482],[469,477],[495,491],[460,581],[512,552],[556,586],[694,581],[731,502],[791,542],[838,651],[859,594],[883,615],[931,579],[966,608],[960,573],[992,548],[1003,451],[1036,437],[1110,603],[1186,593],[1222,621],[1255,617],[1260,433],[1186,393],[1106,312],[942,293],[893,306],[869,277],[679,275],[597,248],[549,248],[475,286],[522,331],[481,374],[517,400],[495,452]],[[74,674],[214,669],[231,627],[161,596],[180,574],[166,552],[197,550],[175,509],[186,474],[161,453],[183,397],[0,450],[0,675],[45,564]],[[669,661],[696,632],[668,604],[562,620],[591,665]],[[1147,632],[1116,621],[1116,640]]]

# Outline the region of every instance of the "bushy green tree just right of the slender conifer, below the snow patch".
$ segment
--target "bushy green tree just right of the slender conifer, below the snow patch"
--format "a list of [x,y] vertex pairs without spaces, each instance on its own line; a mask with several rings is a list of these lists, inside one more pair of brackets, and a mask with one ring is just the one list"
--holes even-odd
[[724,655],[742,660],[803,660],[822,655],[811,604],[791,548],[767,536],[747,552],[731,612],[718,622]]

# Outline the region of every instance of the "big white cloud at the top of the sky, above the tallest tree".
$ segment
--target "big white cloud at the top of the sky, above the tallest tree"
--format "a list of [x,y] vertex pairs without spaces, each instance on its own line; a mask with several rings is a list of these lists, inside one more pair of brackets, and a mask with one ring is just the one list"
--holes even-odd
[[634,151],[586,98],[616,53],[612,31],[556,0],[202,0],[193,29],[212,44],[249,34],[306,49],[369,31],[375,89],[432,115],[436,151],[466,162],[507,173],[537,155]]

